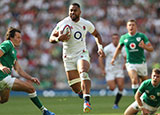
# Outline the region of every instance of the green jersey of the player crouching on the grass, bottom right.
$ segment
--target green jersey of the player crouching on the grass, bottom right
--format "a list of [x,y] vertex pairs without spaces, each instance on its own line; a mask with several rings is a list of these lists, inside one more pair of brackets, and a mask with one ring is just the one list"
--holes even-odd
[[139,87],[138,91],[143,94],[143,101],[152,107],[160,106],[160,84],[154,87],[151,79],[145,80]]

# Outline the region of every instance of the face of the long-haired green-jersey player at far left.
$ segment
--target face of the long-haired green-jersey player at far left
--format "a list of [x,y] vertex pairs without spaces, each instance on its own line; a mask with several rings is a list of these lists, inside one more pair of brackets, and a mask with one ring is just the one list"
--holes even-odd
[[15,35],[11,38],[11,41],[15,47],[19,47],[21,44],[21,34],[19,32],[15,32]]

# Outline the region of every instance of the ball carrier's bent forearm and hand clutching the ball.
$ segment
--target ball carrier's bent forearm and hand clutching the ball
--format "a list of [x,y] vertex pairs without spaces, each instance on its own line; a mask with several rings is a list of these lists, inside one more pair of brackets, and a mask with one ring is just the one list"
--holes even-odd
[[[69,33],[69,32],[68,32]],[[59,41],[64,42],[69,40],[68,33],[62,34],[62,31],[58,31],[56,28],[52,31],[49,38],[50,43],[57,43]]]

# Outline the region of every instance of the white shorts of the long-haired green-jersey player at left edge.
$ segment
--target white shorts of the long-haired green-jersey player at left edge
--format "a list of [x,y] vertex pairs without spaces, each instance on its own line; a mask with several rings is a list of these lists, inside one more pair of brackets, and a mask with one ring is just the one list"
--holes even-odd
[[16,78],[12,78],[11,75],[8,75],[6,78],[0,81],[0,91],[4,89],[11,89]]

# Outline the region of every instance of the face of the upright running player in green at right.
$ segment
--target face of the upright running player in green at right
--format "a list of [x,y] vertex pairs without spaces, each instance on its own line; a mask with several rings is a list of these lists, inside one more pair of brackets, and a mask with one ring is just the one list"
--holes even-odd
[[134,35],[137,31],[137,26],[135,22],[127,22],[127,30],[131,35]]

